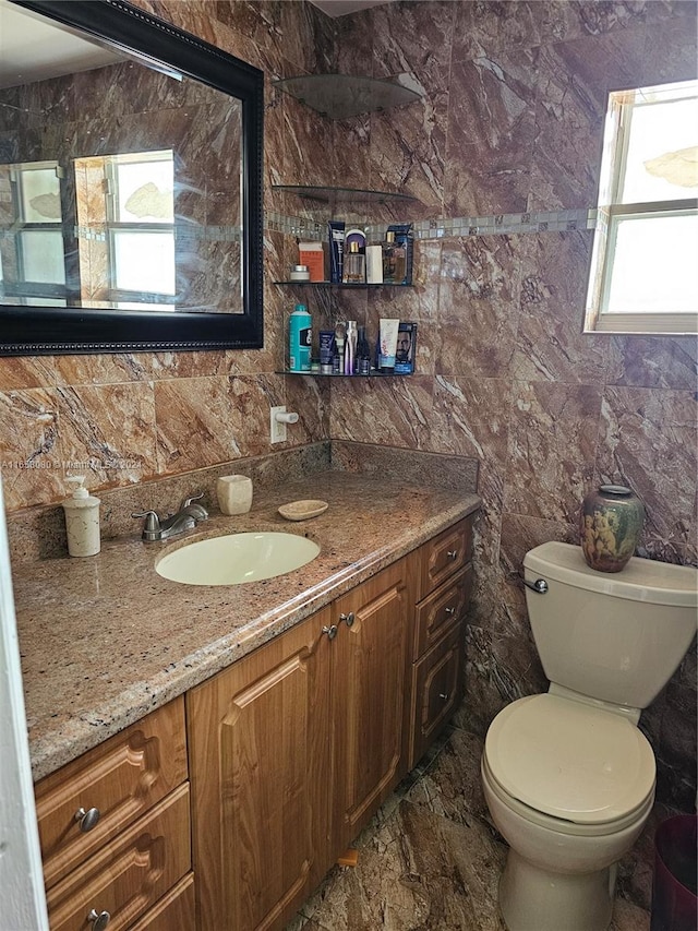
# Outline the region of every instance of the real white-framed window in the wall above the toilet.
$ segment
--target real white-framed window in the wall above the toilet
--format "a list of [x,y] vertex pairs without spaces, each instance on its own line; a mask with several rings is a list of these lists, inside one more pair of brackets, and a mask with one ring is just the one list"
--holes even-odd
[[698,82],[610,95],[586,331],[698,331]]

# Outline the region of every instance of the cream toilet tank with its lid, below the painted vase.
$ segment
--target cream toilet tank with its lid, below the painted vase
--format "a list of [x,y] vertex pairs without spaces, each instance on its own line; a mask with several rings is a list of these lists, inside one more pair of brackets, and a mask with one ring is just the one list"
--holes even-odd
[[647,707],[696,633],[698,571],[633,557],[618,573],[585,562],[581,547],[547,542],[524,558],[531,630],[551,682],[603,702]]

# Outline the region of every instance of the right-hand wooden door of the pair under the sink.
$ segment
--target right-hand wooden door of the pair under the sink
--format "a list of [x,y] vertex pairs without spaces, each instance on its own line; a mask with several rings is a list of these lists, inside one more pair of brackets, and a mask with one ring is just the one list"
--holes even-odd
[[[406,658],[411,637],[401,560],[338,599],[332,644],[335,845],[342,850],[401,776]],[[341,617],[353,621],[347,625]]]

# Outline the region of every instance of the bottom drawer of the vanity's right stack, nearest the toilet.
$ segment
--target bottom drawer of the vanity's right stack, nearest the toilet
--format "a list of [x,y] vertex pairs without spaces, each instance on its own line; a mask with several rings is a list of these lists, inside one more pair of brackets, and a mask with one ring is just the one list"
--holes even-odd
[[412,667],[412,768],[458,707],[462,692],[464,631],[458,624]]

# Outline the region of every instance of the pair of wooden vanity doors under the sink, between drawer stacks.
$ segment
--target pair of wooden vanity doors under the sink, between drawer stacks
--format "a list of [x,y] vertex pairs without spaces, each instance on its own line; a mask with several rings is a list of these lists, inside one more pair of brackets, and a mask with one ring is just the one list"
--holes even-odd
[[282,929],[398,781],[401,560],[188,694],[202,929]]

